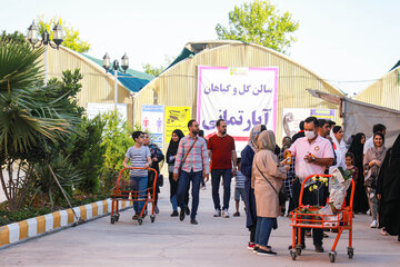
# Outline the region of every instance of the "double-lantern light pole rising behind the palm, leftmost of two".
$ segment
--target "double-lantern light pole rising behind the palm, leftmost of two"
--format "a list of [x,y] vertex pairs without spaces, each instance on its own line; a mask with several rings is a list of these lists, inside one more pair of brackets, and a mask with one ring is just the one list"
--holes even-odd
[[38,47],[41,44],[44,46],[44,85],[48,83],[49,80],[49,67],[48,67],[48,47],[50,46],[53,49],[59,49],[60,44],[62,43],[62,26],[60,23],[57,23],[53,28],[53,42],[50,41],[50,33],[44,29],[43,33],[41,34],[41,40],[39,40],[39,28],[34,23],[34,20],[32,21],[32,24],[28,28],[28,41],[32,44],[32,48],[36,48],[36,44],[39,43]]

